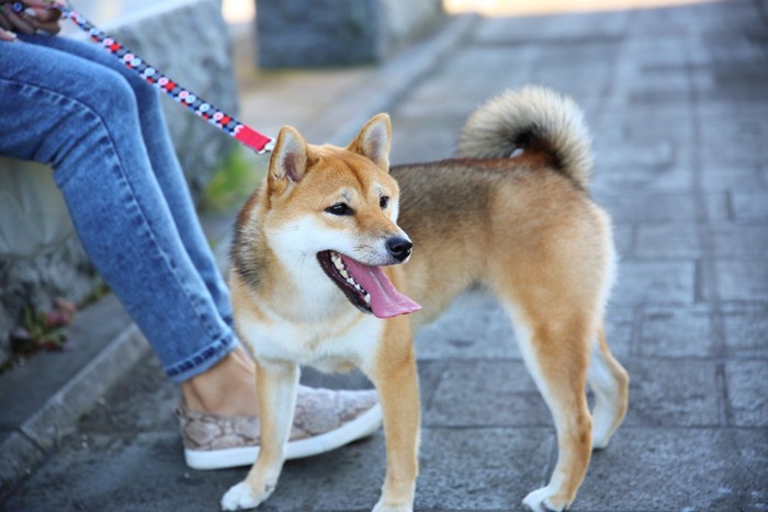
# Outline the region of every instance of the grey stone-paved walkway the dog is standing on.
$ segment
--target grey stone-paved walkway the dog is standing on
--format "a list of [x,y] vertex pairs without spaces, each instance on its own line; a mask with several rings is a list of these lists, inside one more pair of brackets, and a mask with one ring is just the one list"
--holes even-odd
[[[388,110],[393,163],[450,157],[465,116],[505,88],[543,83],[583,105],[594,196],[613,216],[622,259],[609,342],[632,384],[628,418],[592,457],[573,510],[768,509],[768,5],[680,3],[461,19],[381,67],[244,77],[245,121],[291,123],[315,141],[342,141]],[[118,311],[99,307],[82,315],[91,326]],[[417,510],[517,510],[546,481],[555,437],[499,307],[466,295],[417,344]],[[12,388],[3,376],[2,394],[32,397],[55,356],[30,360]],[[41,464],[0,509],[217,509],[246,469],[184,467],[176,389],[146,349],[135,357],[95,372],[93,387],[117,383],[56,446],[39,446]],[[286,464],[262,510],[370,509],[383,470],[379,432]]]

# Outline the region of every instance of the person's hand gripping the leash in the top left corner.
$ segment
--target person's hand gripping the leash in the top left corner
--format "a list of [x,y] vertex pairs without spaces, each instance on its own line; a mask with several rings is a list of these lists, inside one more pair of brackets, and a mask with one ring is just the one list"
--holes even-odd
[[16,32],[32,35],[37,31],[57,34],[61,12],[48,9],[50,0],[0,0],[0,41],[15,41]]

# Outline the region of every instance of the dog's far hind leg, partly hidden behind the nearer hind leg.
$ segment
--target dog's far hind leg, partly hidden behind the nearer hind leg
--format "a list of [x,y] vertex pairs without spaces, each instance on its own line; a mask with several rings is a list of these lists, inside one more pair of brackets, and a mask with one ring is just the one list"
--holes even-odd
[[598,330],[587,373],[595,394],[592,447],[605,448],[619,428],[629,407],[630,376],[608,349],[605,328]]

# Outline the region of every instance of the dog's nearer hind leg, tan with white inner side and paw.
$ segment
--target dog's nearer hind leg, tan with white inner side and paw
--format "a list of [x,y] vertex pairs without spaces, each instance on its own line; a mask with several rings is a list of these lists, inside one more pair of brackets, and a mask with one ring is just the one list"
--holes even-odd
[[591,456],[592,421],[586,397],[589,322],[578,315],[557,318],[550,311],[538,318],[517,311],[512,318],[526,366],[554,419],[558,448],[550,482],[529,493],[523,505],[533,511],[565,510]]

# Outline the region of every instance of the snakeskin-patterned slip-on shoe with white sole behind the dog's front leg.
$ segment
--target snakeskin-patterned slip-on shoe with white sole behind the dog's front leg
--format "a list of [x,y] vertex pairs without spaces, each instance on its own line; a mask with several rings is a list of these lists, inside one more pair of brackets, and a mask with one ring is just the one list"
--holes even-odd
[[[183,405],[184,460],[193,469],[248,466],[259,454],[257,417],[223,417],[196,412]],[[376,391],[336,391],[300,386],[286,459],[318,455],[375,432],[382,424]]]

